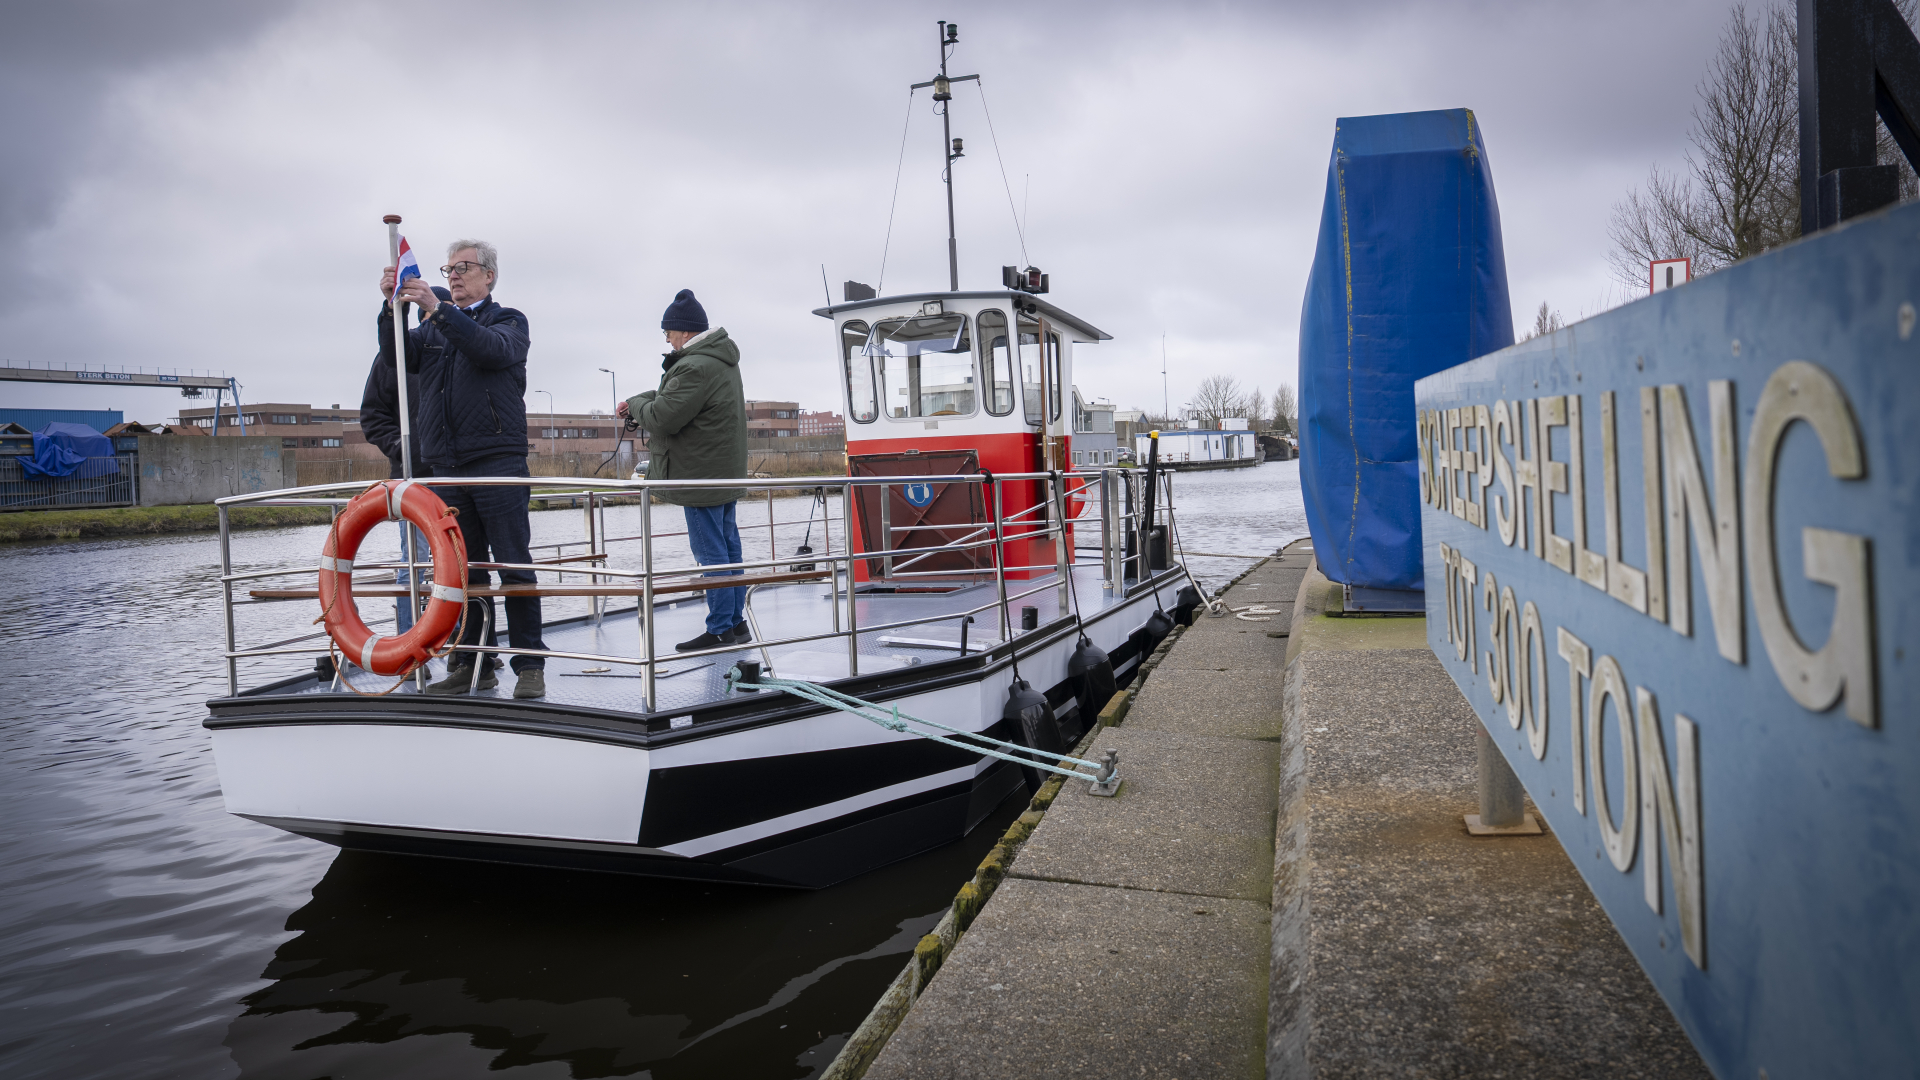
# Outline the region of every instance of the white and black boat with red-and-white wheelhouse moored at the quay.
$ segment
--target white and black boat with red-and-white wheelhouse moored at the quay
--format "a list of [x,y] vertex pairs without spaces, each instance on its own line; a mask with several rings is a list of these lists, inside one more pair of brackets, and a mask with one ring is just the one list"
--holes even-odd
[[[1169,550],[1158,463],[1068,465],[1073,346],[1108,334],[1046,300],[1033,267],[1008,267],[1002,288],[950,284],[849,282],[816,311],[849,415],[845,477],[459,480],[584,507],[578,542],[518,565],[538,584],[465,590],[586,598],[543,628],[541,700],[515,700],[511,680],[426,696],[444,661],[380,676],[353,659],[371,644],[342,651],[324,634],[242,642],[252,605],[294,605],[303,623],[326,582],[355,611],[422,586],[392,584],[394,561],[236,561],[232,509],[340,511],[367,484],[221,500],[227,694],[204,723],[227,811],[351,849],[822,888],[958,840],[1060,771],[1200,592]],[[776,490],[810,488],[822,550],[664,565],[676,532],[655,502],[689,486],[745,488],[770,523]],[[637,503],[637,532],[611,534],[616,502]],[[701,577],[716,569],[743,577]],[[670,651],[701,632],[718,582],[749,588],[753,642]],[[518,651],[493,630],[480,651]],[[920,726],[876,723],[887,711]]]

